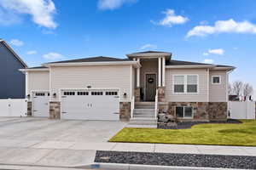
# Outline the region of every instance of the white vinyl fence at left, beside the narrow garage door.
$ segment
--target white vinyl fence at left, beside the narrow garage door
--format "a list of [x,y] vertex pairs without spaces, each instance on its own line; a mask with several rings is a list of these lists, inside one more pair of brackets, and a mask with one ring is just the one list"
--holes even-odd
[[26,116],[26,99],[0,99],[0,116]]

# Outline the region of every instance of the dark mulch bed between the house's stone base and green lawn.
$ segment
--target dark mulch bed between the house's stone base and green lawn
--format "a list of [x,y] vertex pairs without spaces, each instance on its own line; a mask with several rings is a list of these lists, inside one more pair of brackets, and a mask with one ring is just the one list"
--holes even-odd
[[205,124],[205,123],[242,123],[242,122],[239,120],[236,120],[236,119],[228,119],[227,121],[210,121],[210,122],[177,122],[176,126],[168,126],[167,123],[158,122],[157,128],[185,129],[185,128],[191,128],[192,126],[197,125],[197,124]]

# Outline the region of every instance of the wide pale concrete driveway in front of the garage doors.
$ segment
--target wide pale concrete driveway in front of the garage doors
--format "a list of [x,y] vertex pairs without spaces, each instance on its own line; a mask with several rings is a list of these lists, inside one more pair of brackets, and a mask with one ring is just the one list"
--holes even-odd
[[96,150],[123,122],[0,117],[0,164],[73,167],[93,163]]

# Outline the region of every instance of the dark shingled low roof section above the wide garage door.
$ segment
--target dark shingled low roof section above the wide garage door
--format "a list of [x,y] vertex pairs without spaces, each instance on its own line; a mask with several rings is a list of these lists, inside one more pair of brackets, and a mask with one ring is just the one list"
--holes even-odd
[[113,57],[104,57],[104,56],[98,56],[98,57],[90,57],[90,58],[84,58],[84,59],[70,59],[70,60],[63,60],[63,61],[55,61],[50,62],[46,64],[57,64],[57,63],[84,63],[84,62],[110,62],[110,61],[131,61],[130,59],[118,59]]

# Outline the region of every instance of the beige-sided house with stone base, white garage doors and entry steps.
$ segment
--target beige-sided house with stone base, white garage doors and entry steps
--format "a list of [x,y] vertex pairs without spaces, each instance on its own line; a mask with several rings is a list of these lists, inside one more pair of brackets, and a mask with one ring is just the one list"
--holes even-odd
[[92,57],[45,63],[26,72],[32,116],[76,120],[227,118],[229,73],[235,67],[172,59],[145,51],[126,59]]

